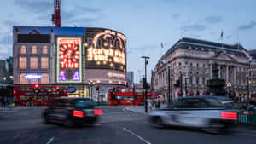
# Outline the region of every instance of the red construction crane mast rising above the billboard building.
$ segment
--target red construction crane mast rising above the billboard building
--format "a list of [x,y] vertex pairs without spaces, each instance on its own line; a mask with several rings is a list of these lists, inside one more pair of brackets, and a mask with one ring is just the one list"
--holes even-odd
[[54,0],[55,14],[52,14],[51,21],[56,27],[61,27],[61,0]]

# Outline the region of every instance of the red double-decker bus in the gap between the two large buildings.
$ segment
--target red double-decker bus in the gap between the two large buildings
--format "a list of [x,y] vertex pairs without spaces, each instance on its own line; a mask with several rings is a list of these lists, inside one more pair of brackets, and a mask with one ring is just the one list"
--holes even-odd
[[[156,97],[155,93],[151,92],[149,89],[148,98]],[[143,105],[143,88],[122,88],[116,87],[108,89],[108,105]]]

